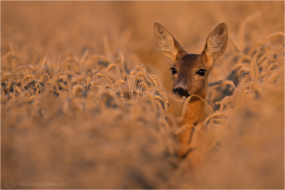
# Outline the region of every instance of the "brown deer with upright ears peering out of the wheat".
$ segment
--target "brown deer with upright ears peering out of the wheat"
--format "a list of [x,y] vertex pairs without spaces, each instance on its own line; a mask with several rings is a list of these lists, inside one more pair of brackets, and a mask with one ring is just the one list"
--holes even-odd
[[[173,61],[170,68],[173,80],[172,97],[181,105],[181,112],[187,106],[180,127],[186,124],[192,126],[185,128],[179,134],[181,148],[178,150],[178,156],[188,157],[191,163],[197,166],[200,162],[198,148],[202,138],[201,133],[205,128],[203,125],[200,125],[202,126],[200,129],[194,126],[201,124],[205,119],[204,100],[207,94],[208,75],[216,59],[226,50],[228,29],[225,23],[219,24],[208,36],[204,50],[200,54],[188,54],[159,23],[154,24],[154,36],[158,50]],[[190,95],[193,96],[186,101]],[[200,96],[203,100],[194,95]]]

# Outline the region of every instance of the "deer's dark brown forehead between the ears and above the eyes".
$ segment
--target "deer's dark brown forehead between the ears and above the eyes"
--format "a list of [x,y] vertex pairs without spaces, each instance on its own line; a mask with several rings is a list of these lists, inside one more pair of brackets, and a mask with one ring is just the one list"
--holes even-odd
[[203,60],[200,54],[187,54],[184,55],[180,60],[178,60],[175,64],[177,67],[181,67],[181,69],[196,69],[198,67],[204,66]]

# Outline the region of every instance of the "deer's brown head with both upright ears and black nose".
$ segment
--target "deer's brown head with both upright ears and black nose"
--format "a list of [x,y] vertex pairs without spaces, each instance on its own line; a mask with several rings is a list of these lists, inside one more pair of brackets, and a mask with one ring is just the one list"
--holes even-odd
[[[228,43],[228,29],[219,24],[209,35],[204,50],[200,54],[188,54],[172,35],[159,23],[154,24],[154,35],[158,49],[173,61],[172,96],[177,103],[184,103],[191,94],[206,97],[208,75],[215,60],[225,51]],[[197,98],[191,98],[195,101]]]

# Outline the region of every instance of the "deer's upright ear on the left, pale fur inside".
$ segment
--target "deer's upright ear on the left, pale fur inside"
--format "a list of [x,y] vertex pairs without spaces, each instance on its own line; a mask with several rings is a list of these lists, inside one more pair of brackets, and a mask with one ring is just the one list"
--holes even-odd
[[178,61],[187,54],[172,35],[159,23],[154,24],[154,36],[160,52],[173,62]]

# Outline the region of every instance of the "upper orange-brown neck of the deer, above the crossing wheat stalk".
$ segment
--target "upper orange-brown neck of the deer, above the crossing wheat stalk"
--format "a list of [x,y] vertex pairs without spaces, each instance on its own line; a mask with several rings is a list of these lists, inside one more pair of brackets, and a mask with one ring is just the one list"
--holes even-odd
[[[181,112],[184,107],[184,104],[181,104]],[[205,119],[205,105],[202,100],[190,101],[184,116],[184,119],[180,123],[180,126],[185,124],[196,125],[200,122],[203,122]]]

